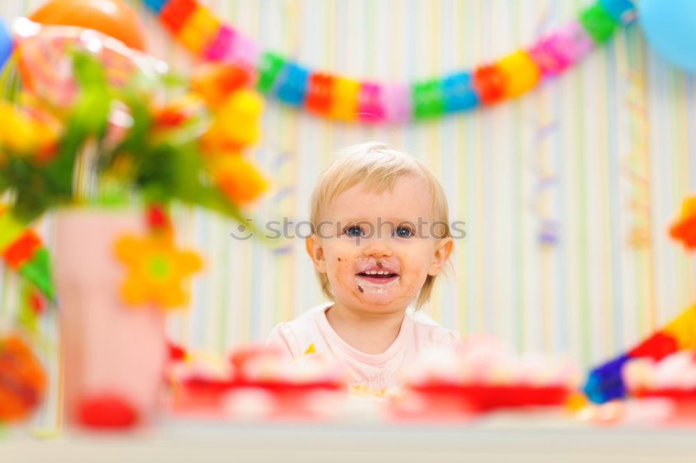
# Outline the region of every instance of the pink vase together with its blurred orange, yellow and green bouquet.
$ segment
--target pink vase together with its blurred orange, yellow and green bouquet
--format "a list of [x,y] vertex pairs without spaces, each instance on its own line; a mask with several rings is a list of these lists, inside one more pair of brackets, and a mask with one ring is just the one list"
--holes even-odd
[[[11,225],[0,232],[3,257],[52,298],[48,253],[26,227],[57,210],[68,422],[148,423],[166,359],[161,309],[185,307],[187,275],[201,266],[175,251],[167,211],[181,202],[249,227],[244,211],[269,185],[244,155],[260,136],[262,100],[234,67],[209,67],[189,85],[156,58],[74,26],[19,19],[14,49],[1,82],[0,222]],[[165,90],[177,96],[166,100]],[[125,259],[128,270],[117,257],[133,254],[116,244],[124,236],[157,238],[169,251],[149,246],[141,261]],[[119,291],[133,266],[156,298],[132,284]]]

